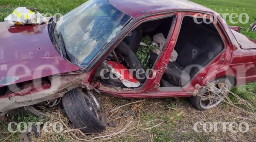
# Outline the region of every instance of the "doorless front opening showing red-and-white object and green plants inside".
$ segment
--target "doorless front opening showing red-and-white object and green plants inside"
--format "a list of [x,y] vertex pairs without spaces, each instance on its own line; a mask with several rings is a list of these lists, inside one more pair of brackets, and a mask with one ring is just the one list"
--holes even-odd
[[105,86],[143,86],[148,69],[153,68],[158,54],[165,47],[173,20],[173,17],[167,17],[137,26],[98,67],[94,78],[98,78]]

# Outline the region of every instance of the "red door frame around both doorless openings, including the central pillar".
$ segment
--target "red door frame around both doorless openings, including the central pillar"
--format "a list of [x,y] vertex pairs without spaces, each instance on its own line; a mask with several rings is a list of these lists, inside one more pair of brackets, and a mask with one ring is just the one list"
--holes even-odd
[[[218,68],[218,70],[215,70],[215,72],[211,72],[209,75],[204,72],[202,73],[202,70],[208,70],[208,71],[211,70],[211,68],[207,66],[209,66],[209,64],[212,64],[213,61],[217,63],[218,61],[220,61],[220,58],[222,56],[233,57],[232,46],[231,46],[232,43],[228,41],[228,37],[225,36],[226,33],[224,33],[223,28],[221,28],[221,25],[219,25],[220,23],[218,22],[216,24],[217,29],[221,34],[221,38],[224,39],[225,49],[215,59],[213,59],[209,64],[207,64],[207,66],[201,69],[201,71],[199,71],[199,73],[195,75],[196,77],[194,77],[192,81],[189,82],[188,85],[184,87],[179,87],[179,88],[170,87],[165,89],[159,87],[160,79],[162,78],[163,72],[166,69],[166,65],[169,62],[169,58],[171,56],[172,50],[174,49],[175,44],[177,42],[177,37],[180,31],[182,19],[185,15],[193,16],[195,14],[198,14],[198,12],[196,11],[175,11],[174,12],[173,11],[173,12],[165,12],[162,14],[148,15],[147,17],[141,17],[136,21],[134,21],[133,24],[130,26],[130,28],[128,28],[128,30],[124,34],[122,33],[123,35],[120,36],[120,38],[117,40],[118,42],[116,42],[116,44],[113,45],[114,47],[116,47],[116,45],[118,45],[119,42],[121,42],[122,39],[125,38],[124,35],[128,34],[129,31],[132,31],[134,28],[136,28],[138,25],[145,22],[146,20],[155,20],[157,18],[163,19],[165,17],[170,17],[170,15],[176,15],[175,24],[171,29],[172,33],[169,33],[169,38],[168,38],[168,41],[166,42],[166,47],[163,48],[162,53],[160,54],[160,56],[158,56],[157,61],[153,66],[153,69],[156,71],[151,72],[151,75],[156,76],[156,78],[151,80],[147,79],[143,84],[143,86],[135,89],[129,89],[129,88],[116,89],[113,87],[104,86],[104,87],[101,87],[99,91],[102,94],[112,95],[114,97],[122,97],[122,98],[190,97],[192,96],[192,92],[195,90],[195,84],[204,85],[207,81],[210,81],[211,79],[213,79],[214,75],[218,74],[218,72],[227,70],[230,63],[226,61],[224,62],[222,61],[222,63],[227,63],[227,64],[223,64],[224,66]],[[204,14],[204,12],[202,12],[202,14]],[[218,21],[219,20],[220,19],[218,19]],[[114,47],[112,47],[111,50],[113,50]],[[230,57],[226,58],[226,60],[229,60]]]

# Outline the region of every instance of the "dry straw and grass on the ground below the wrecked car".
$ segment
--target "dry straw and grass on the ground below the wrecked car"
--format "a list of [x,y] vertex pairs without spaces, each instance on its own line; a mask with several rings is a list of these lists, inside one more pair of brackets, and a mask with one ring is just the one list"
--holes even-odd
[[[200,95],[200,94],[198,94]],[[230,95],[236,98],[237,103],[230,99]],[[83,134],[79,129],[73,128],[65,114],[57,108],[50,109],[50,116],[42,122],[61,123],[64,131],[61,133],[47,133],[41,131],[38,138],[30,134],[33,142],[67,141],[67,142],[253,142],[256,138],[255,109],[246,100],[230,92],[227,99],[220,106],[207,111],[198,111],[183,98],[164,99],[121,99],[99,95],[103,108],[107,115],[107,122],[112,122],[113,127],[107,126],[101,134]],[[223,125],[217,125],[216,131],[204,132],[202,125],[195,123],[226,123],[226,131]],[[238,128],[233,133],[229,130],[229,123],[246,122],[249,131],[242,133]],[[47,126],[47,129],[51,127]],[[245,129],[245,125],[242,125]],[[7,139],[6,139],[7,140]]]

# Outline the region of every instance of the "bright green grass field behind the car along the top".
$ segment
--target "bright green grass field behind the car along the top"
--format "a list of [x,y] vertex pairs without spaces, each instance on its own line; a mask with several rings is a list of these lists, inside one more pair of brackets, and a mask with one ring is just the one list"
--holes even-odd
[[[8,16],[12,11],[20,6],[37,8],[37,11],[41,13],[60,13],[65,14],[68,11],[76,8],[87,0],[0,0],[0,21],[3,21],[4,17]],[[254,22],[256,18],[256,1],[255,0],[191,0],[195,3],[199,3],[203,6],[211,8],[212,10],[222,13],[246,13],[249,15],[249,22],[247,24],[231,24],[227,21],[228,25],[240,26],[243,28],[241,33],[256,40],[255,32],[247,32],[246,29],[250,23]],[[228,17],[227,17],[228,19]],[[245,19],[243,18],[243,21]],[[234,22],[238,21],[238,18],[233,19]]]

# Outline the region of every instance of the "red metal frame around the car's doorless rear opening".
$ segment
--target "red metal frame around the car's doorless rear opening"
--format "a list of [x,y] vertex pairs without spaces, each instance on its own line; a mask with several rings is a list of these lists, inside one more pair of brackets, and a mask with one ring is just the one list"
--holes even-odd
[[[203,14],[204,16],[198,16],[198,14]],[[183,87],[164,87],[159,88],[160,92],[172,92],[179,94],[180,92],[183,93],[190,93],[195,90],[195,85],[204,86],[207,84],[208,81],[211,81],[215,78],[215,76],[219,72],[223,72],[227,70],[230,66],[230,63],[233,58],[233,44],[230,42],[227,34],[225,33],[224,29],[221,26],[220,19],[216,17],[213,14],[209,13],[198,13],[195,11],[190,12],[180,12],[178,14],[181,17],[180,25],[179,25],[179,31],[183,22],[184,17],[197,17],[197,18],[207,18],[213,21],[213,24],[215,28],[217,29],[219,36],[223,40],[224,43],[224,49],[221,51],[221,53],[218,54],[215,58],[212,59],[206,66],[204,66],[201,70],[199,70],[196,75],[191,79],[191,81]],[[178,37],[179,33],[177,33]],[[177,40],[176,40],[177,42]],[[174,48],[175,45],[171,48]],[[214,70],[213,70],[214,69]]]

